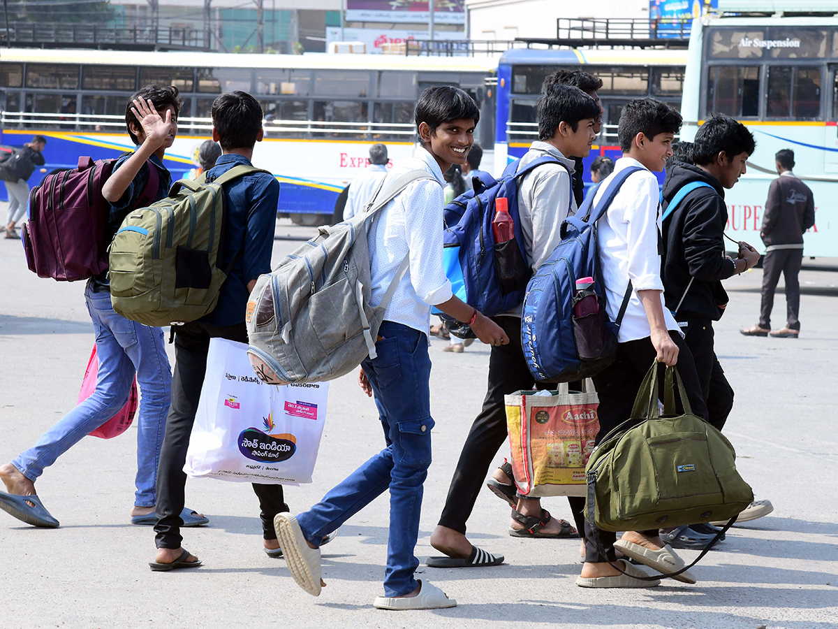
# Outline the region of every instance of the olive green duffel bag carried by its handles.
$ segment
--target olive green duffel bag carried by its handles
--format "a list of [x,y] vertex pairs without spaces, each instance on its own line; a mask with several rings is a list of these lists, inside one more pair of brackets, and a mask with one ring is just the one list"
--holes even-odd
[[[667,367],[664,415],[658,363],[646,374],[629,421],[608,433],[587,462],[587,517],[603,531],[644,531],[727,520],[753,502],[731,443],[692,414],[675,367]],[[684,414],[675,413],[673,377]]]

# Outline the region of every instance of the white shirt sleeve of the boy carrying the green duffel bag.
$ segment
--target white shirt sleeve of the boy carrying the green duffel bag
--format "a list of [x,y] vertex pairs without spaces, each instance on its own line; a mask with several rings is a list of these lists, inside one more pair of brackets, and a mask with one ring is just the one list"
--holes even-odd
[[[633,180],[634,179],[634,180]],[[626,212],[629,223],[626,232],[629,258],[629,278],[635,290],[660,290],[660,257],[658,252],[658,203],[660,193],[654,175],[631,178],[623,187],[631,185],[629,198],[633,199]],[[622,191],[621,191],[622,192]]]

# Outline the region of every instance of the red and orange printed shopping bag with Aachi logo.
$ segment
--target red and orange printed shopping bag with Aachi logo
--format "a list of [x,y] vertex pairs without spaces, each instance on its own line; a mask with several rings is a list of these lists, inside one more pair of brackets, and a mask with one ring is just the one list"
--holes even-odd
[[515,483],[522,496],[585,496],[585,465],[599,420],[590,378],[584,390],[519,391],[504,397]]

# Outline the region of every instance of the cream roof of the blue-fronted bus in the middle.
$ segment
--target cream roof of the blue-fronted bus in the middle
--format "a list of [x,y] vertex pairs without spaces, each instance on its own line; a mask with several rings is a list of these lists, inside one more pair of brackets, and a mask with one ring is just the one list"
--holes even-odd
[[685,65],[686,50],[512,49],[500,65]]

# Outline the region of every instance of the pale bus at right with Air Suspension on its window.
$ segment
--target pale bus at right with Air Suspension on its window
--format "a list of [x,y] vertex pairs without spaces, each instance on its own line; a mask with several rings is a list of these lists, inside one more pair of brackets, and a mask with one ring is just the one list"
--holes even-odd
[[759,230],[777,176],[774,153],[791,148],[794,174],[815,195],[815,226],[804,235],[804,252],[838,257],[838,18],[696,19],[681,137],[695,138],[714,113],[737,118],[757,140],[747,174],[725,194],[728,234],[763,247]]

